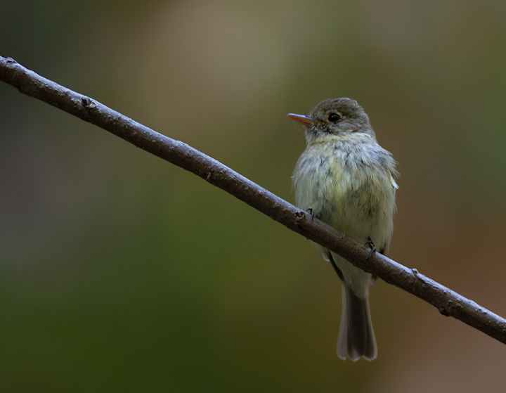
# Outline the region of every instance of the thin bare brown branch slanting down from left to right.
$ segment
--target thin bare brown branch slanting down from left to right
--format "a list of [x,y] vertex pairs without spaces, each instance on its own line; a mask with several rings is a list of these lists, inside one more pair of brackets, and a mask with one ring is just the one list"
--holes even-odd
[[86,122],[110,131],[163,160],[193,172],[205,181],[231,193],[292,231],[337,252],[355,266],[396,285],[436,307],[441,314],[453,316],[506,344],[506,320],[470,299],[393,260],[369,250],[344,236],[311,214],[246,179],[212,157],[131,120],[87,96],[69,90],[22,67],[12,58],[0,56],[0,80],[20,93],[38,98]]

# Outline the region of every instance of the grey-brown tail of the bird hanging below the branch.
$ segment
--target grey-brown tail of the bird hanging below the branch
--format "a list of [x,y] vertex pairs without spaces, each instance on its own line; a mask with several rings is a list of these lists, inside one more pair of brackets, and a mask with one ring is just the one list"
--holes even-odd
[[337,356],[357,361],[376,359],[377,347],[369,311],[369,297],[361,299],[343,281],[343,309]]

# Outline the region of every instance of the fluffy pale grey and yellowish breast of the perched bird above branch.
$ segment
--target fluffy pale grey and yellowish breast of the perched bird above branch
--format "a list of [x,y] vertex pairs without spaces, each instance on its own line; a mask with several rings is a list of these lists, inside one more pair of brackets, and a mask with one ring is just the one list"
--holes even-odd
[[391,155],[377,144],[309,146],[294,170],[296,202],[355,240],[371,238],[378,249],[388,248],[395,173]]

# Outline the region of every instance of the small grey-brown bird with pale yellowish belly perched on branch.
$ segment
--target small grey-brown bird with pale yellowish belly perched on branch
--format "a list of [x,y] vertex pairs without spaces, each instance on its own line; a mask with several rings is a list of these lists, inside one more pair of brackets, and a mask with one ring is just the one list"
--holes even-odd
[[[363,108],[350,98],[325,100],[307,116],[288,114],[304,125],[307,147],[292,182],[297,206],[346,236],[388,252],[394,230],[396,161],[376,141]],[[342,317],[337,356],[373,360],[377,346],[369,311],[370,273],[316,245],[342,281]]]

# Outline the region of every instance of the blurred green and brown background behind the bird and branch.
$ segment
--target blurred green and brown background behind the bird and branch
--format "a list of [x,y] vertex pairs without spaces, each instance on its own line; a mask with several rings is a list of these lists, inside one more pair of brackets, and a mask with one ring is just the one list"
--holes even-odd
[[[287,112],[355,98],[398,160],[389,257],[506,316],[503,1],[4,1],[1,56],[294,202]],[[305,238],[0,84],[2,392],[476,392],[506,347],[378,281],[375,361]]]

